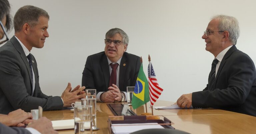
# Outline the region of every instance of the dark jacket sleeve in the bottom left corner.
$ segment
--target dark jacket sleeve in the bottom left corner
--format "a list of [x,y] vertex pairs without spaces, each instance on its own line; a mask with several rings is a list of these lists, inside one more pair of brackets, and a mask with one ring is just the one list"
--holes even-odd
[[0,123],[0,134],[31,134],[31,133],[25,128],[8,127]]

